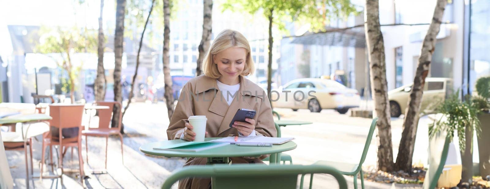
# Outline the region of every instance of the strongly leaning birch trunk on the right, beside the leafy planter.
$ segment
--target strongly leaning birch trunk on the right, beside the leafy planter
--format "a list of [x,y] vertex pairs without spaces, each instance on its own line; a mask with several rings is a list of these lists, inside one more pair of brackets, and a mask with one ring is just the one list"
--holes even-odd
[[432,23],[422,43],[422,50],[418,58],[417,71],[415,73],[414,85],[410,92],[409,103],[403,120],[403,132],[396,156],[396,170],[412,171],[412,157],[414,155],[415,138],[420,115],[420,105],[425,84],[425,77],[429,73],[429,65],[436,45],[436,36],[441,26],[442,14],[447,0],[438,0],[434,10]]

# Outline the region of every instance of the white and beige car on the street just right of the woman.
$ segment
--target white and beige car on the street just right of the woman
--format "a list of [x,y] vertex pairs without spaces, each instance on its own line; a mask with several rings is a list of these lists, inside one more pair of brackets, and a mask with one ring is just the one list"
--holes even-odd
[[359,107],[361,102],[357,90],[320,78],[294,79],[273,90],[270,99],[274,108],[309,109],[311,112],[334,109],[341,114]]

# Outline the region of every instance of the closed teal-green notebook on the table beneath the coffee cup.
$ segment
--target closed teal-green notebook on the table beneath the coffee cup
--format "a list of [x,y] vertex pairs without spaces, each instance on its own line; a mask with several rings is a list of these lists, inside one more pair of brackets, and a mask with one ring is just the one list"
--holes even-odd
[[153,150],[165,150],[165,151],[203,151],[212,148],[217,148],[225,145],[229,145],[228,142],[183,142],[174,145],[168,145],[163,147],[155,147]]

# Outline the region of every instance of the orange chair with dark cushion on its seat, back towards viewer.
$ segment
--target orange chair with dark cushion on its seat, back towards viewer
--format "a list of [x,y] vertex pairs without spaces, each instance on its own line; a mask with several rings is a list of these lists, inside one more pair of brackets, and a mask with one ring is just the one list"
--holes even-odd
[[[61,174],[63,174],[63,157],[65,155],[68,147],[72,147],[72,157],[73,157],[73,147],[78,148],[78,162],[80,166],[80,182],[83,186],[83,159],[82,159],[82,116],[83,116],[83,104],[51,104],[49,105],[49,115],[53,118],[50,120],[50,126],[58,128],[58,133],[54,134],[49,132],[43,133],[43,148],[41,157],[41,178],[43,175],[43,164],[45,157],[46,147],[52,149],[53,145],[59,145],[59,159],[58,165],[61,168]],[[74,137],[65,137],[63,135],[63,129],[67,128],[79,128],[78,134]],[[57,136],[56,136],[57,135]],[[64,148],[64,150],[63,150]],[[50,160],[52,163],[52,153],[50,154]],[[51,164],[52,170],[52,164]],[[62,177],[61,177],[62,178]],[[63,182],[63,178],[61,179]]]

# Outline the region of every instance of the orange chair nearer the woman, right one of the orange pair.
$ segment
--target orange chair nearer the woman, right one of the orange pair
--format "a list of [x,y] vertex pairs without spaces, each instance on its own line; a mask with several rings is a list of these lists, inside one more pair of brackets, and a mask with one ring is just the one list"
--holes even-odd
[[119,122],[117,124],[117,127],[113,128],[110,127],[111,120],[113,117],[113,110],[114,106],[119,106],[119,109],[123,109],[123,105],[120,102],[97,102],[96,103],[98,106],[108,106],[109,109],[103,109],[103,110],[98,110],[98,128],[88,128],[89,130],[84,130],[82,131],[82,135],[85,136],[85,149],[87,152],[87,163],[89,162],[89,157],[88,157],[88,145],[87,145],[87,138],[88,136],[98,136],[98,137],[105,137],[105,169],[107,169],[107,142],[108,138],[110,135],[119,135],[121,138],[121,157],[124,162],[124,157],[123,157],[123,134],[121,134],[121,122],[123,118],[123,113],[119,113]]

